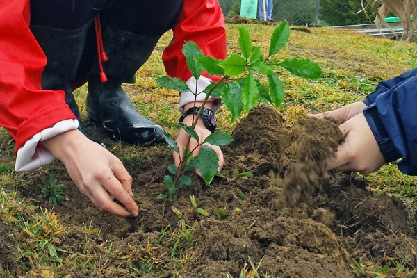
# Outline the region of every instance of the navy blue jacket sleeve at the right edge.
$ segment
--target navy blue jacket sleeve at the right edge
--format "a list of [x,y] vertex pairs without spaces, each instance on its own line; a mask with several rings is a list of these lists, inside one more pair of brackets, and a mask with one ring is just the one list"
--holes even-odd
[[417,175],[417,70],[379,84],[363,114],[385,161],[402,160],[404,174]]

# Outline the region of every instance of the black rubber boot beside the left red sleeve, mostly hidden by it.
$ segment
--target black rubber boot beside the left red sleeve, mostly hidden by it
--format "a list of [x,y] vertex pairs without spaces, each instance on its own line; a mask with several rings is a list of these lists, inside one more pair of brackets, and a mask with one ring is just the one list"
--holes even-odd
[[[76,76],[77,67],[83,54],[85,34],[91,24],[76,30],[63,30],[45,26],[31,25],[40,47],[47,56],[47,65],[41,77],[44,90],[63,90],[65,101],[80,120],[79,107],[72,95],[70,81]],[[81,125],[79,127],[81,129]]]

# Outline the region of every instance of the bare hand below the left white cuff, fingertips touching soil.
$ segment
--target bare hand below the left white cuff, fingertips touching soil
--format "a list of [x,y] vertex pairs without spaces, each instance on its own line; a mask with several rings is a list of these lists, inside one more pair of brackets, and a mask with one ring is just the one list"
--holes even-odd
[[[72,181],[92,204],[108,213],[137,216],[133,200],[132,178],[122,162],[80,131],[61,133],[42,144],[65,165]],[[123,206],[113,201],[113,197]]]

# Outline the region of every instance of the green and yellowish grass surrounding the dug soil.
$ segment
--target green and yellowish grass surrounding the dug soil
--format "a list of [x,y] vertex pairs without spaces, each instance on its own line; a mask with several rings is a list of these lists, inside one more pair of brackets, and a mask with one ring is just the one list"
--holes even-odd
[[[267,52],[270,35],[275,26],[247,24],[245,26],[256,45],[260,45],[263,53]],[[232,54],[238,51],[238,29],[235,25],[227,25],[228,51]],[[169,44],[171,34],[163,36],[152,54],[137,74],[135,84],[124,85],[129,92],[138,111],[154,122],[164,126],[167,133],[176,136],[177,119],[179,111],[177,104],[178,93],[161,88],[155,79],[162,74],[163,64],[161,54],[163,47]],[[309,58],[322,67],[322,78],[316,81],[298,79],[280,72],[281,79],[286,88],[286,99],[279,108],[286,121],[295,121],[300,115],[307,112],[327,111],[364,99],[373,91],[379,81],[396,76],[404,70],[416,67],[416,44],[401,44],[387,39],[371,38],[366,35],[350,31],[334,30],[332,28],[299,28],[291,30],[290,42],[277,57],[277,61],[285,58]],[[138,92],[144,92],[140,94]],[[76,101],[81,109],[81,117],[85,118],[85,86],[74,92]],[[229,111],[220,108],[218,111],[219,129],[231,132],[235,123],[229,122]],[[142,149],[112,145],[111,152],[126,161],[126,167],[137,167],[138,161],[152,152],[168,152],[167,149],[152,149],[152,152],[142,152]],[[86,225],[85,229],[76,231],[85,238],[85,243],[78,250],[60,250],[60,240],[69,231],[60,225],[59,215],[53,211],[40,211],[33,204],[33,200],[19,196],[18,188],[33,186],[33,180],[38,179],[33,173],[14,172],[15,163],[14,143],[4,129],[0,129],[0,216],[1,220],[13,224],[21,234],[22,242],[19,244],[19,264],[30,269],[36,263],[48,264],[59,262],[60,254],[70,252],[67,265],[94,272],[97,277],[105,277],[104,268],[108,263],[100,260],[100,254],[114,254],[115,272],[122,277],[123,261],[135,258],[142,261],[131,272],[147,270],[161,274],[164,270],[186,268],[197,258],[195,243],[190,236],[193,224],[186,221],[186,216],[175,211],[179,216],[179,227],[168,232],[161,231],[158,240],[149,240],[147,247],[138,250],[127,246],[124,252],[112,249],[111,242],[104,242],[99,248],[93,247],[94,238],[99,237],[101,229]],[[408,177],[398,171],[395,163],[385,165],[381,170],[368,174],[370,190],[377,193],[389,193],[400,197],[410,208],[417,208],[416,177]],[[242,196],[245,199],[245,196]],[[190,199],[190,209],[204,211],[199,208],[195,199]],[[225,217],[222,208],[217,209],[219,219]],[[168,250],[168,251],[166,251]],[[169,259],[167,259],[169,258]],[[164,261],[165,260],[165,261]],[[114,262],[113,262],[114,263]],[[261,264],[261,263],[259,263]],[[398,273],[402,277],[411,277],[413,273],[404,273],[404,261],[392,260]],[[114,266],[114,265],[113,265]],[[59,268],[59,267],[58,267]],[[268,277],[268,274],[258,273],[259,265],[245,265],[240,270],[240,277]],[[359,265],[352,262],[352,268],[363,277],[389,277],[391,272],[384,265]],[[7,272],[3,277],[8,277]],[[231,277],[225,274],[225,277]]]

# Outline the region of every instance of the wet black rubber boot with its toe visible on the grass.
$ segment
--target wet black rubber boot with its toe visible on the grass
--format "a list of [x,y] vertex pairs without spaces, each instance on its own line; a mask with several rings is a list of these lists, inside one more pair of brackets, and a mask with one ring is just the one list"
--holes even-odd
[[121,87],[122,83],[134,83],[136,71],[160,37],[149,38],[108,24],[102,38],[108,56],[103,63],[108,81],[101,82],[99,65],[93,64],[88,73],[88,116],[118,142],[140,146],[163,142],[163,128],[139,115]]

